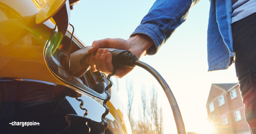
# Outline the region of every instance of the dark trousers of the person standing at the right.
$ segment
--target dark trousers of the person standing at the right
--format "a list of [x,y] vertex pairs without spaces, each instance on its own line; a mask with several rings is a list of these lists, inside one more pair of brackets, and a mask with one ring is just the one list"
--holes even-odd
[[251,134],[256,134],[256,13],[232,24],[235,70]]

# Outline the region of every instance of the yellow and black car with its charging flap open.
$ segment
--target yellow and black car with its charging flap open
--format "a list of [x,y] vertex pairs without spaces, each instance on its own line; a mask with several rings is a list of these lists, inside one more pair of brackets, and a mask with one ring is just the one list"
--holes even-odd
[[[0,133],[101,133],[107,76],[69,72],[67,56],[86,47],[69,25],[76,2],[0,1]],[[105,134],[131,134],[117,78],[111,80]]]

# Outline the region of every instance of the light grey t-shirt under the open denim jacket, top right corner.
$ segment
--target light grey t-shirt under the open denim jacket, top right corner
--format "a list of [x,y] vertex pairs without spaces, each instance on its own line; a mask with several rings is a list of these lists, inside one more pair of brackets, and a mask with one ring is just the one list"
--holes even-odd
[[232,23],[256,12],[256,0],[232,0]]

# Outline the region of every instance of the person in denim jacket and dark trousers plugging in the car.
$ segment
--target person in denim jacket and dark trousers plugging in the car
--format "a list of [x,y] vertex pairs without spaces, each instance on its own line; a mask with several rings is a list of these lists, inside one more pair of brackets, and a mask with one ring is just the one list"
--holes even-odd
[[[129,50],[138,58],[154,55],[187,19],[199,0],[157,0],[130,38],[94,41],[89,53],[92,71],[113,72],[107,49]],[[256,0],[210,0],[207,30],[208,72],[228,69],[235,63],[245,117],[251,134],[256,134]],[[124,77],[132,68],[117,68]]]

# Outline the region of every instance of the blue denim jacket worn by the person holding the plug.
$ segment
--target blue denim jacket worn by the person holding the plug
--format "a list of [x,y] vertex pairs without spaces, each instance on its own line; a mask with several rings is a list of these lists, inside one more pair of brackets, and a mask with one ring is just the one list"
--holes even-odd
[[[187,19],[199,0],[157,0],[131,36],[145,34],[155,43],[147,55],[157,53],[174,31]],[[207,30],[208,72],[224,70],[233,63],[231,30],[232,0],[210,0]]]

